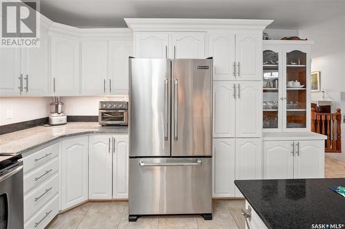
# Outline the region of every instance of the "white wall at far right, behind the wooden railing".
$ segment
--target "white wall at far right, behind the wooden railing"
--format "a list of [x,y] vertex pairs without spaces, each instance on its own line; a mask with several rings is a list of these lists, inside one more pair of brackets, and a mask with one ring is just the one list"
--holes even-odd
[[[333,111],[337,108],[345,113],[345,15],[338,15],[324,23],[299,29],[299,36],[314,41],[312,50],[312,71],[321,72],[321,89],[326,91],[326,99],[333,101]],[[321,100],[321,93],[312,93],[312,100]],[[345,124],[342,124],[343,153],[327,153],[345,162]]]

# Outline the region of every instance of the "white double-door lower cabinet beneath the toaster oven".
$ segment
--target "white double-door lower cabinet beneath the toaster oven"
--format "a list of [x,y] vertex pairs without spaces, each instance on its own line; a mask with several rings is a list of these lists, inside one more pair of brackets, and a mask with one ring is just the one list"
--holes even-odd
[[128,136],[90,135],[89,199],[128,198]]

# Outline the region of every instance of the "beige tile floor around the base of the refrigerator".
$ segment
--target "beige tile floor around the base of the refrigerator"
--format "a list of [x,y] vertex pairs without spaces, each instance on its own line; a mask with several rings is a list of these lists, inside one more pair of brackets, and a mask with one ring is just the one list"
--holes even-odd
[[128,222],[127,201],[88,202],[58,215],[48,226],[52,228],[138,228],[138,229],[244,229],[241,215],[243,199],[213,200],[213,220],[204,221],[199,215],[140,217]]

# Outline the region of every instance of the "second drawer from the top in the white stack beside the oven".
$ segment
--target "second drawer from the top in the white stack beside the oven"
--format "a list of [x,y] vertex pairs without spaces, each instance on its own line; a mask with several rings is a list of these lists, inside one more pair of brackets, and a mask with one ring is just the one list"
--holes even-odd
[[39,168],[24,173],[24,193],[31,188],[39,186],[59,171],[59,157],[55,157],[50,162],[39,166]]

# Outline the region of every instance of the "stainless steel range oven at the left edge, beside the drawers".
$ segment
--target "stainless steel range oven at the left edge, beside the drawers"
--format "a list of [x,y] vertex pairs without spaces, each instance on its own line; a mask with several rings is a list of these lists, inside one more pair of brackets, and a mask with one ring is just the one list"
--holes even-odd
[[23,228],[21,155],[0,155],[0,229]]

